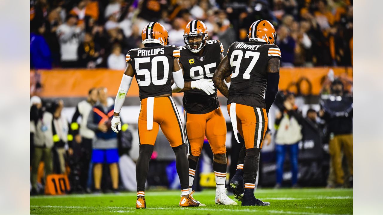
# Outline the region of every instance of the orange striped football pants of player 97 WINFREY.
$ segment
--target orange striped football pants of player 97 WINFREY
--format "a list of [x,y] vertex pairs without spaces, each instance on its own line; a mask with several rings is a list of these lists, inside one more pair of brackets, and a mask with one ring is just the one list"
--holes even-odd
[[[230,106],[228,112],[230,115]],[[254,108],[243,104],[236,104],[237,129],[245,140],[246,149],[262,148],[267,130],[267,113],[264,108]]]

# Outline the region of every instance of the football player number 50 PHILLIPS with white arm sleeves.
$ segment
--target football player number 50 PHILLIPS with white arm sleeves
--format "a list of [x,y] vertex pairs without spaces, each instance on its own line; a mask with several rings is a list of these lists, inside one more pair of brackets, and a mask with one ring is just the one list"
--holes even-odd
[[160,23],[147,24],[142,29],[141,36],[145,47],[131,49],[126,55],[128,65],[116,96],[112,119],[112,129],[118,133],[121,129],[119,112],[133,76],[136,75],[141,99],[141,111],[138,117],[140,146],[136,164],[136,208],[146,208],[145,182],[159,127],[175,153],[177,173],[181,182],[179,205],[182,207],[203,206],[189,194],[185,138],[180,116],[172,99],[171,79],[173,78],[179,88],[184,86],[182,70],[178,64],[180,50],[176,46],[167,45],[168,33]]

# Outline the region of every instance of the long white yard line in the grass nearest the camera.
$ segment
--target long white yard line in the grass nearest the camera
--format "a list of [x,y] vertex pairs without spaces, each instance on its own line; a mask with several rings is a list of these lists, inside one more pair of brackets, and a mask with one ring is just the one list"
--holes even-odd
[[[86,207],[86,206],[52,206],[52,205],[31,205],[31,207],[43,207],[43,208],[82,208],[82,209],[101,209],[101,210],[110,210],[109,212],[116,213],[129,213],[136,210],[134,207]],[[125,209],[125,210],[111,210],[111,209]],[[128,210],[126,210],[128,209]],[[147,210],[204,210],[204,211],[228,211],[228,212],[264,212],[264,213],[276,213],[276,214],[297,214],[297,215],[340,215],[332,213],[312,213],[312,212],[296,212],[296,211],[286,211],[286,210],[250,210],[249,208],[245,209],[229,209],[229,208],[205,208],[205,207],[196,207],[196,208],[170,208],[170,207],[159,207],[159,208],[147,208]]]

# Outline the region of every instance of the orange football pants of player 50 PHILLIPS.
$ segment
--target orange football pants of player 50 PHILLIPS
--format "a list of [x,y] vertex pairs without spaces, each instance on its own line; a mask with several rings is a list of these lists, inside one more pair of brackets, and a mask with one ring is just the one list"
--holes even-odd
[[153,129],[147,130],[147,98],[142,99],[138,117],[138,137],[141,144],[154,145],[159,127],[169,140],[171,147],[182,145],[185,141],[180,116],[172,97],[154,98]]

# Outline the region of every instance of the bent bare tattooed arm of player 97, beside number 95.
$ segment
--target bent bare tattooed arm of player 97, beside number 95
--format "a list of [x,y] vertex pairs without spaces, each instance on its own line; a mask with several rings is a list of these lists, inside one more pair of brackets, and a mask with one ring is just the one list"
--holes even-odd
[[226,56],[221,61],[221,63],[218,65],[218,67],[217,67],[217,69],[213,75],[214,85],[218,88],[218,90],[224,96],[226,96],[226,98],[229,97],[229,88],[228,88],[228,86],[226,86],[226,84],[223,80],[226,77],[230,76],[230,74],[231,74],[231,70],[230,70],[229,58],[228,58],[228,56]]

